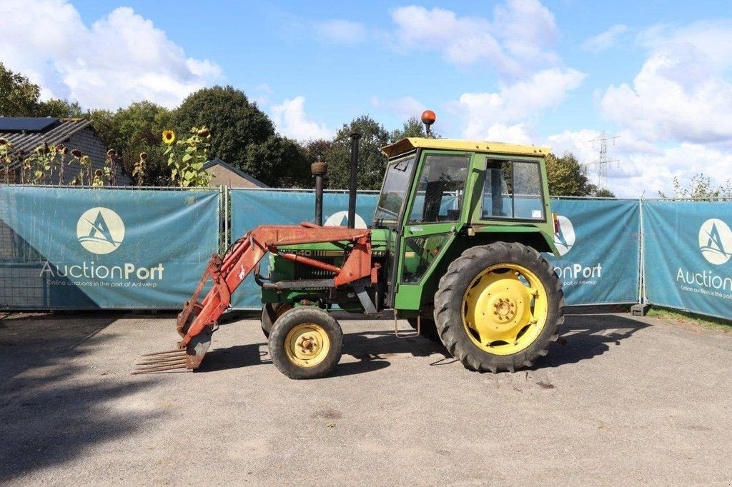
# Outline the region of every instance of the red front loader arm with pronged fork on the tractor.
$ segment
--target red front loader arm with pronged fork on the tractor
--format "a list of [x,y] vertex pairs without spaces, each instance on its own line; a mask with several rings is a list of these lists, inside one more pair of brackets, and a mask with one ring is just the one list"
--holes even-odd
[[[279,246],[301,243],[351,242],[352,249],[342,267],[319,260],[281,252]],[[225,312],[231,295],[255,269],[267,252],[276,252],[290,260],[325,269],[335,274],[335,286],[342,286],[359,279],[376,279],[372,271],[370,230],[346,227],[319,227],[303,222],[299,225],[262,225],[239,238],[224,257],[213,254],[206,271],[190,301],[186,301],[178,315],[176,330],[182,337],[176,350],[143,355],[134,374],[168,371],[173,369],[198,369],[211,344],[213,325]],[[211,279],[212,287],[203,301],[198,298]]]

